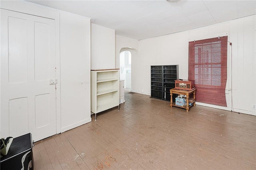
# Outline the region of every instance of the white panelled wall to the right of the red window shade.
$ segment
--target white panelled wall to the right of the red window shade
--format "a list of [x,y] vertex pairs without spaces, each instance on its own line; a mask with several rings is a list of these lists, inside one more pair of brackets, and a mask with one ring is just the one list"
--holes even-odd
[[231,21],[229,27],[234,111],[256,115],[256,15]]

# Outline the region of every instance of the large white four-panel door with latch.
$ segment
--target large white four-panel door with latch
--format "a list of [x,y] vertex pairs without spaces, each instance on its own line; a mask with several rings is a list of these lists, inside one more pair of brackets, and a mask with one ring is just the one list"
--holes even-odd
[[55,21],[1,9],[1,136],[56,134]]

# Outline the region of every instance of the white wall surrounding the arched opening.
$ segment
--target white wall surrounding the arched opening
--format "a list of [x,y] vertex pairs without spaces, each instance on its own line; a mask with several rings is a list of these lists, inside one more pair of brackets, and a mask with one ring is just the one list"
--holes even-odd
[[126,38],[122,36],[116,35],[116,67],[120,68],[120,57],[119,54],[122,51],[130,51],[131,57],[132,57],[132,82],[131,82],[131,91],[132,92],[138,92],[138,40],[134,40],[131,38]]

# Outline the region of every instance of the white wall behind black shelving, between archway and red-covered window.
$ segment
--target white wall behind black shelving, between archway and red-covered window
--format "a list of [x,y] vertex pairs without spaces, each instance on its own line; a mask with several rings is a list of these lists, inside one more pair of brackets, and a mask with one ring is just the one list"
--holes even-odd
[[187,79],[188,32],[139,41],[139,93],[146,95],[151,94],[150,65],[179,65],[179,78]]

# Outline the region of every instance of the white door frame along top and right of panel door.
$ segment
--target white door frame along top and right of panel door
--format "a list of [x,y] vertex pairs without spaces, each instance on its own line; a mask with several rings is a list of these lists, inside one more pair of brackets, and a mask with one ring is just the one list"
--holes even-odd
[[35,5],[25,1],[1,1],[1,9],[21,12],[24,14],[50,18],[55,20],[55,59],[56,59],[56,134],[61,132],[61,109],[60,109],[60,14],[52,8]]

